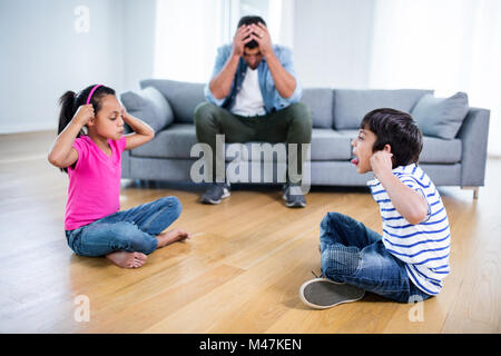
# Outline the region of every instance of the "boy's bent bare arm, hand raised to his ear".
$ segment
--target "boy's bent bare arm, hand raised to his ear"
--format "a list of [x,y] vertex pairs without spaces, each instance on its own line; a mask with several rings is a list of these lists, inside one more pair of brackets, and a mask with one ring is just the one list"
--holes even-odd
[[374,175],[383,185],[396,211],[412,225],[422,222],[428,216],[426,199],[404,185],[392,172],[392,154],[383,150],[371,157]]

